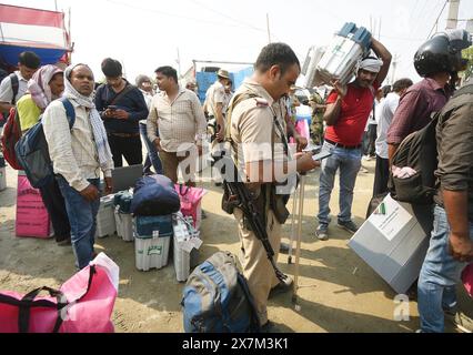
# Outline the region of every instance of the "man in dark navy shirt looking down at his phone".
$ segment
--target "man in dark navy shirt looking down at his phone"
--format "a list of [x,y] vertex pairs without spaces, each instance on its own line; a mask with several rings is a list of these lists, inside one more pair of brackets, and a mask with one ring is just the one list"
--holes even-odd
[[141,164],[139,121],[148,118],[148,106],[140,90],[122,78],[119,61],[102,61],[107,83],[97,89],[94,103],[105,125],[114,166]]

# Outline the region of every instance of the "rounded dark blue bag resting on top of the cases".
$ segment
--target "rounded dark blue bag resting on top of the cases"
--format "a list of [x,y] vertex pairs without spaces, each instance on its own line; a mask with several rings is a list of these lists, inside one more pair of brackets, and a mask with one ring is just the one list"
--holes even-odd
[[143,176],[134,186],[131,213],[137,215],[164,215],[178,212],[179,194],[172,181],[164,175]]

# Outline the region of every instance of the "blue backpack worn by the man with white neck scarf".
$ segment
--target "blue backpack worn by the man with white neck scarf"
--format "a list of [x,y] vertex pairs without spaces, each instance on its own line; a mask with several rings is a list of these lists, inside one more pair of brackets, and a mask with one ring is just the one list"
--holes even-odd
[[[66,115],[69,121],[69,129],[72,129],[76,122],[76,111],[72,103],[61,98],[66,109]],[[51,158],[49,156],[48,142],[46,141],[44,131],[41,122],[39,122],[24,133],[14,145],[17,160],[24,170],[31,186],[39,189],[48,185],[54,179]]]

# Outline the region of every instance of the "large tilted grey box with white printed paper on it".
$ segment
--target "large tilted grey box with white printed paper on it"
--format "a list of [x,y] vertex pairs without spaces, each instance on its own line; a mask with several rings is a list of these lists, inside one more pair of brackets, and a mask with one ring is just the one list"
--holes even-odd
[[[411,204],[388,195],[349,242],[395,292],[405,294],[419,277],[429,248],[431,210],[414,213]],[[421,220],[415,215],[422,215]],[[424,225],[424,227],[423,227]],[[431,224],[432,225],[432,224]]]

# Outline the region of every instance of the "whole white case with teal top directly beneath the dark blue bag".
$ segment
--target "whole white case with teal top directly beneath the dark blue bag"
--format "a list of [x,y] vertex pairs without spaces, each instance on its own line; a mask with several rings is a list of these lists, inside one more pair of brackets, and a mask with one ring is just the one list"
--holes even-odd
[[134,254],[137,268],[149,271],[168,265],[172,237],[172,215],[134,217]]

